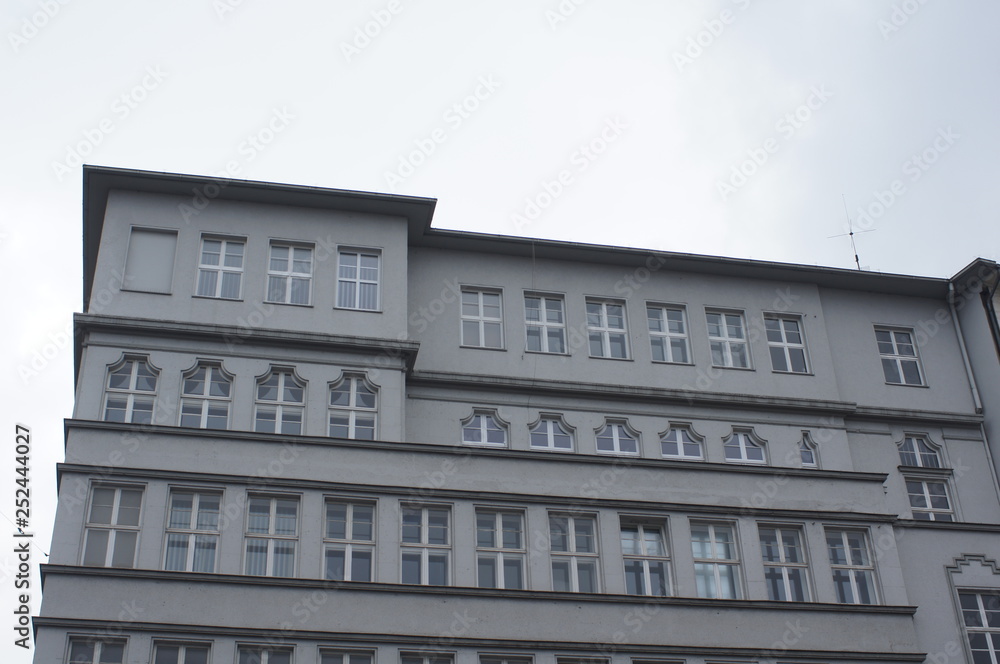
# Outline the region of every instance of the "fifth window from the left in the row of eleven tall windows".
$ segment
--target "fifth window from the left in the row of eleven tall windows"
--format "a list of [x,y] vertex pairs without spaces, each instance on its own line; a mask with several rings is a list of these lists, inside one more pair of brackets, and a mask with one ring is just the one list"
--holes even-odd
[[403,507],[401,516],[402,582],[448,585],[451,566],[451,510],[447,507]]

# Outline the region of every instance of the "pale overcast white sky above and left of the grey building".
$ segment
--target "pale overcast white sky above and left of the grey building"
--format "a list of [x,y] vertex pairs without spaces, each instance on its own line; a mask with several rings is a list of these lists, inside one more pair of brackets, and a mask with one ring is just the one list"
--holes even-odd
[[[846,232],[844,196],[877,229],[857,236],[863,266],[950,276],[1000,259],[1000,4],[576,3],[4,3],[0,536],[13,542],[18,422],[34,562],[48,550],[81,308],[74,152],[437,198],[439,228],[853,267],[848,238],[828,239]],[[30,661],[0,633],[0,659]]]

